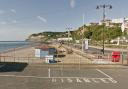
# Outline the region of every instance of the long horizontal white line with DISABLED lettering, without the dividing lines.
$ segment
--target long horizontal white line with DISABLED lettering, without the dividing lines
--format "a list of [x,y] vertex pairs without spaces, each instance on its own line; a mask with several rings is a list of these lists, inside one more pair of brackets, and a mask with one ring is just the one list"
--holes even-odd
[[[41,76],[22,76],[22,75],[0,75],[0,77],[16,77],[16,78],[37,78],[37,79],[52,79],[52,82],[55,83],[57,80],[61,83],[67,81],[68,83],[73,83],[73,79],[76,79],[77,83],[117,83],[116,80],[112,78],[85,78],[85,77],[41,77]],[[74,80],[75,81],[75,80]]]

